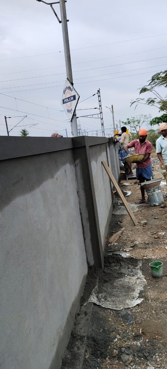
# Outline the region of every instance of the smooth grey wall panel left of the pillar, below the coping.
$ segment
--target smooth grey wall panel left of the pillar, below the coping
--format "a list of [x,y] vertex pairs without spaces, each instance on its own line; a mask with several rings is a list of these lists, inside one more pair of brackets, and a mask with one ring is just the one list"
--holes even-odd
[[59,368],[87,274],[72,150],[0,172],[1,365]]

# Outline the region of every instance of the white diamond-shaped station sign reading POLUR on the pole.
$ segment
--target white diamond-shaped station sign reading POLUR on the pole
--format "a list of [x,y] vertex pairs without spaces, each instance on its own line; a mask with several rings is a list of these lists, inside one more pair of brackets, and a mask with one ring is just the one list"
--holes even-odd
[[67,78],[65,81],[65,86],[61,98],[61,105],[64,108],[64,111],[68,115],[68,118],[70,120],[74,115],[76,105],[78,104],[78,100],[79,95]]

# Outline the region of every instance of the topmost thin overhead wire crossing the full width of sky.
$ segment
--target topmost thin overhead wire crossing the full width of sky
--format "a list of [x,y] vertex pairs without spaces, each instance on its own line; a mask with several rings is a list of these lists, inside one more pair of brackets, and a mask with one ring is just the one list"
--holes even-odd
[[[100,45],[86,46],[86,47],[82,47],[82,48],[71,49],[71,51],[75,51],[75,50],[83,50],[83,49],[90,49],[90,48],[93,48],[93,47],[99,47],[99,46],[101,47],[101,46],[108,46],[108,45],[120,44],[120,43],[122,43],[122,42],[137,41],[137,40],[142,40],[142,39],[146,39],[146,38],[159,37],[159,36],[165,36],[165,35],[167,35],[167,33],[162,33],[162,34],[159,34],[159,35],[153,35],[153,36],[145,36],[145,37],[132,38],[132,39],[122,40],[122,41],[109,42],[108,44],[100,44]],[[8,61],[8,60],[16,60],[16,59],[33,58],[34,56],[42,56],[42,55],[58,54],[59,52],[60,52],[60,51],[48,52],[48,53],[45,53],[45,54],[36,54],[36,55],[27,55],[27,56],[18,56],[17,58],[1,59],[1,60],[0,60],[0,62],[4,62],[4,61]],[[64,52],[64,51],[61,51],[61,52]]]

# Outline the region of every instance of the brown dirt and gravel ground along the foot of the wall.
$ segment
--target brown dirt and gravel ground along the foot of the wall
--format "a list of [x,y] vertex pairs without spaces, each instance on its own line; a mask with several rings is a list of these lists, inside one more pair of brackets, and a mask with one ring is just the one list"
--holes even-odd
[[[152,158],[154,177],[161,177],[156,154],[152,154]],[[121,189],[132,191],[126,197],[130,204],[141,198],[138,184]],[[167,186],[162,186],[161,190],[167,194]],[[150,204],[139,207],[134,215],[139,222],[147,221],[144,227],[140,223],[135,227],[129,215],[112,216],[108,239],[123,227],[125,231],[116,244],[106,242],[105,268],[89,270],[81,303],[87,301],[91,293],[91,278],[108,282],[113,276],[122,276],[122,259],[116,255],[108,256],[112,251],[126,251],[133,256],[130,264],[128,259],[123,261],[127,263],[129,273],[133,273],[134,266],[141,261],[147,284],[140,292],[143,301],[130,309],[116,311],[93,304],[82,369],[167,368],[167,198],[164,204],[164,208]],[[154,279],[151,276],[151,261],[163,262],[163,277]],[[115,269],[115,265],[120,267]],[[125,363],[122,355],[127,355],[129,362]]]

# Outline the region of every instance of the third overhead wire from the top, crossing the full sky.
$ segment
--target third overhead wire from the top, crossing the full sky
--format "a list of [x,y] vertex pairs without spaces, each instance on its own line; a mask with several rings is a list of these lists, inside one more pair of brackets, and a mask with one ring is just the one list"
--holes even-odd
[[[95,70],[95,69],[102,69],[102,68],[110,68],[110,67],[115,67],[115,66],[120,66],[120,65],[127,65],[127,64],[133,64],[133,63],[140,63],[140,62],[147,62],[150,60],[156,60],[156,59],[163,59],[163,58],[167,58],[166,56],[159,56],[158,58],[150,58],[150,59],[143,59],[143,60],[137,60],[134,62],[127,62],[127,63],[120,63],[120,64],[112,64],[112,65],[105,65],[102,67],[95,67],[95,68],[89,68],[89,69],[81,69],[81,70],[74,70],[73,73],[78,73],[78,72],[87,72],[88,70]],[[54,74],[47,74],[47,75],[43,75],[43,76],[34,76],[34,77],[25,77],[25,78],[17,78],[17,79],[9,79],[9,80],[5,80],[5,81],[0,81],[2,82],[14,82],[14,81],[21,81],[21,80],[25,80],[25,79],[34,79],[34,78],[43,78],[43,77],[52,77],[52,76],[59,76],[62,74],[66,74],[66,72],[63,73],[54,73]],[[59,81],[58,81],[59,82]],[[48,83],[54,83],[54,82],[48,82]],[[31,85],[28,85],[31,86]],[[20,87],[26,87],[26,86],[20,86]],[[7,88],[15,88],[15,87],[7,87]]]

